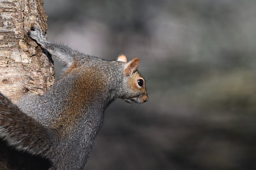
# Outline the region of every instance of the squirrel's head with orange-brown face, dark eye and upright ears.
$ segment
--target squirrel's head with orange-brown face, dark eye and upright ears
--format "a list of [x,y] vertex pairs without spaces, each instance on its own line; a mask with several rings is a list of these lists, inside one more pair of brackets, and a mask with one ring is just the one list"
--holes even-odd
[[125,55],[120,55],[117,61],[124,63],[124,88],[123,95],[120,97],[128,103],[144,103],[148,101],[145,80],[138,72],[140,60],[134,58],[127,63]]

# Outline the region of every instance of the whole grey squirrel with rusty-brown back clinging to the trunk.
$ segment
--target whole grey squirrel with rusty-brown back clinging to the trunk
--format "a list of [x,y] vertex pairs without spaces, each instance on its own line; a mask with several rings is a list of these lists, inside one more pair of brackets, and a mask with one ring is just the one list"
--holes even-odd
[[117,98],[148,101],[138,58],[106,61],[62,44],[48,42],[34,26],[28,33],[42,49],[67,66],[42,96],[25,95],[13,104],[0,93],[0,139],[24,152],[49,159],[50,170],[84,169],[104,111]]

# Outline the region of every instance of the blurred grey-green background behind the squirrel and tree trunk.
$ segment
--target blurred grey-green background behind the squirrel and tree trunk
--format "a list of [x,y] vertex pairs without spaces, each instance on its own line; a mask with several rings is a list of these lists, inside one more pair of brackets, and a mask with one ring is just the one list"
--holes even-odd
[[255,0],[44,0],[44,8],[49,41],[108,60],[139,57],[147,80],[148,102],[108,107],[87,170],[256,169]]

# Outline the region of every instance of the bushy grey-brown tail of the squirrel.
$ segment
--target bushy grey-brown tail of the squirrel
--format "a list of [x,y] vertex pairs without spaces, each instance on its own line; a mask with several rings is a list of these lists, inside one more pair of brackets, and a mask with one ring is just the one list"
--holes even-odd
[[47,157],[58,145],[58,134],[23,113],[0,93],[0,139],[8,145]]

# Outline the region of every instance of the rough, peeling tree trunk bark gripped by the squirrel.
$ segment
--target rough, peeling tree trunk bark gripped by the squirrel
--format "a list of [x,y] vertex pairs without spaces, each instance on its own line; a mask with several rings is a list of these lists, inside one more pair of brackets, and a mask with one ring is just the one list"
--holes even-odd
[[0,0],[0,92],[16,102],[24,94],[44,94],[56,81],[53,62],[26,33],[46,31],[42,0]]

